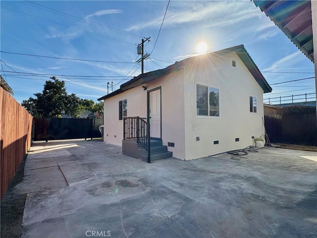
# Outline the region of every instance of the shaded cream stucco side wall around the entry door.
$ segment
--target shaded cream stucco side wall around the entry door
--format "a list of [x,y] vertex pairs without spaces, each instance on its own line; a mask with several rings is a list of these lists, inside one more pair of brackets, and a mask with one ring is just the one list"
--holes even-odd
[[[162,141],[174,142],[168,147],[173,157],[185,159],[184,81],[183,69],[171,72],[159,80],[143,84],[147,90],[161,87]],[[127,117],[147,117],[147,91],[142,86],[126,90],[104,101],[104,141],[122,145],[123,121],[118,120],[118,102],[127,99]],[[116,136],[116,137],[114,137]]]

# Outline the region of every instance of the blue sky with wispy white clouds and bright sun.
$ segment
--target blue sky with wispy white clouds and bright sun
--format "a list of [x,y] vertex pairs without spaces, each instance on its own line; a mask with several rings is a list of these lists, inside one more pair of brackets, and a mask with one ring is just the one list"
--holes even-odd
[[[42,92],[54,75],[78,75],[57,78],[66,82],[69,94],[97,101],[106,95],[107,82],[115,90],[141,73],[136,45],[151,37],[145,44],[151,53],[167,2],[1,0],[1,70],[15,71],[1,75],[18,102]],[[269,84],[315,76],[313,62],[250,0],[171,0],[145,72],[193,56],[200,42],[208,52],[243,44]],[[315,93],[315,79],[271,87],[264,98]]]

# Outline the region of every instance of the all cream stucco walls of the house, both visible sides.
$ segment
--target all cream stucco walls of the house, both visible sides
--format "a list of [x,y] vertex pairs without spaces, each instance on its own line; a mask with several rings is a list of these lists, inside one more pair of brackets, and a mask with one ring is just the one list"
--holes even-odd
[[[232,66],[236,61],[236,67]],[[220,89],[220,117],[196,116],[196,82]],[[252,136],[264,133],[263,89],[244,63],[231,53],[186,65],[146,85],[147,90],[161,87],[162,141],[173,157],[192,160],[253,144]],[[122,145],[123,121],[118,120],[118,102],[127,99],[128,117],[147,117],[147,91],[143,85],[105,100],[104,140]],[[257,113],[250,113],[249,97],[257,97]],[[200,140],[196,141],[199,136]],[[235,142],[239,138],[239,142]],[[219,144],[214,145],[213,141]]]

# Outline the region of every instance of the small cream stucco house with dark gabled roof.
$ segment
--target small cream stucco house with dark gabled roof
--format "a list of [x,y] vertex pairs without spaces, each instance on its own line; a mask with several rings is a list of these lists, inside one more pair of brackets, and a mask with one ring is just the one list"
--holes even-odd
[[129,143],[136,142],[126,135],[135,130],[140,137],[147,125],[129,126],[124,118],[139,117],[150,124],[151,138],[178,159],[244,148],[264,133],[263,94],[271,90],[243,45],[188,58],[99,98],[105,108],[104,140],[123,145],[129,154],[134,148]]

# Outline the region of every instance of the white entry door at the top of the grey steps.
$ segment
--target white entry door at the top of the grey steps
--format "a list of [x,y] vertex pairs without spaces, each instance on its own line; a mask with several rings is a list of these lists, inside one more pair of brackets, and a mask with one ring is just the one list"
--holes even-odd
[[160,89],[150,92],[151,137],[160,138]]

